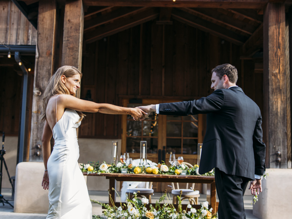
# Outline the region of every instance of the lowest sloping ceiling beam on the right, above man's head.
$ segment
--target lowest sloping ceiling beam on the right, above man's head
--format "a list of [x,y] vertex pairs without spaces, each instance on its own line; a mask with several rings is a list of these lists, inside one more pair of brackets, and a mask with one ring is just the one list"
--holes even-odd
[[243,36],[236,34],[231,30],[215,25],[212,22],[209,22],[202,18],[198,18],[189,13],[185,13],[182,10],[174,8],[171,16],[180,22],[186,23],[187,25],[198,28],[202,31],[222,37],[223,39],[231,41],[234,44],[242,45],[245,41],[245,38]]

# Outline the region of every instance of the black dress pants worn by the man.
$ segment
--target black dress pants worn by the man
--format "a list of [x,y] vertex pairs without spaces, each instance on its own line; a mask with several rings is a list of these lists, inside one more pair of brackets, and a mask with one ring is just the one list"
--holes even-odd
[[215,168],[215,183],[219,198],[219,219],[245,219],[243,196],[248,178],[229,175]]

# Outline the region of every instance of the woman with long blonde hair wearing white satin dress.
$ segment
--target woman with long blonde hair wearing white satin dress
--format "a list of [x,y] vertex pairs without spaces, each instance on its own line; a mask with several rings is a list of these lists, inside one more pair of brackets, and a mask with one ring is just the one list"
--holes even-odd
[[[146,114],[138,108],[76,98],[81,77],[82,73],[77,68],[62,66],[51,77],[44,92],[41,120],[45,122],[42,136],[45,172],[41,185],[49,190],[47,219],[92,219],[91,201],[77,162],[76,128],[84,118],[82,112],[130,114],[134,119]],[[51,154],[52,136],[55,145]]]

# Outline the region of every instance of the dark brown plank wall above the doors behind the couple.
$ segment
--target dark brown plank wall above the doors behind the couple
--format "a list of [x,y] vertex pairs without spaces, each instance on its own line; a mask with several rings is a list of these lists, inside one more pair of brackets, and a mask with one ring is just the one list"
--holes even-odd
[[[253,60],[240,60],[240,46],[176,20],[149,21],[84,45],[81,98],[88,90],[95,102],[121,105],[121,96],[178,98],[207,96],[211,69],[230,63],[239,72],[237,85],[263,109],[263,74]],[[263,112],[263,111],[262,111]],[[121,117],[86,113],[81,138],[120,138]]]

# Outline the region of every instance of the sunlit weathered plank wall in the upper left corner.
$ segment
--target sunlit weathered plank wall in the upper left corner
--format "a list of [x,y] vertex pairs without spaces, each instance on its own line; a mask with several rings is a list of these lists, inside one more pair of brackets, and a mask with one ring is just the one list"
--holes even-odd
[[0,40],[9,45],[36,45],[36,29],[11,0],[0,1]]

